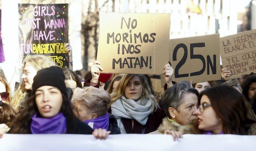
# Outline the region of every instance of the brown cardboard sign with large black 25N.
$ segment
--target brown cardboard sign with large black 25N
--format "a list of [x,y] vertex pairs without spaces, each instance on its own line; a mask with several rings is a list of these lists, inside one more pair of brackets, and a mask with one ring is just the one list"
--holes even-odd
[[193,83],[219,80],[220,34],[171,39],[172,80]]

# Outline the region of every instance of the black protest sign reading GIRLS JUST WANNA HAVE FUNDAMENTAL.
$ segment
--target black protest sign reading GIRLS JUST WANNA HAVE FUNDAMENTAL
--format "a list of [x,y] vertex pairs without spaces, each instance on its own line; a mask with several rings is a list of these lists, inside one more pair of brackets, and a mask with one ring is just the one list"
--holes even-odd
[[22,57],[48,55],[68,67],[68,4],[18,4],[19,46]]

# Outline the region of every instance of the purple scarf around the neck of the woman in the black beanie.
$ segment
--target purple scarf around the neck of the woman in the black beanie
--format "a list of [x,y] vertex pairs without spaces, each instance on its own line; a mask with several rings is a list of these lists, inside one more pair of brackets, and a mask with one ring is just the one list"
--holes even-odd
[[66,117],[60,112],[52,118],[42,118],[36,112],[30,125],[32,134],[63,134],[67,131]]

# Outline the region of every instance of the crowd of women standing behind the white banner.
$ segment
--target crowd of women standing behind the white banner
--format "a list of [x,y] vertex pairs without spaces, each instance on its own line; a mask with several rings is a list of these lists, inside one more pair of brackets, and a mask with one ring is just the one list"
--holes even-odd
[[[67,49],[71,49],[67,45]],[[12,134],[256,135],[256,76],[193,83],[172,81],[163,66],[164,96],[157,101],[144,74],[101,73],[94,61],[89,73],[58,67],[44,55],[32,55],[16,67],[10,83],[0,70],[0,138]],[[13,82],[20,76],[20,81]]]

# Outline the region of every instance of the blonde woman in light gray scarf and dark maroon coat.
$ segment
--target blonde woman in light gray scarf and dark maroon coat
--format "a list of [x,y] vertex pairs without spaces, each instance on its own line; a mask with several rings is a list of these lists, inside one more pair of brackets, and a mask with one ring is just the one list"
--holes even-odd
[[111,94],[111,113],[121,134],[155,131],[165,117],[143,74],[125,74]]

